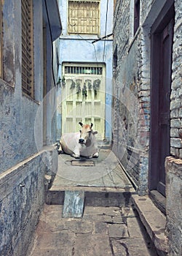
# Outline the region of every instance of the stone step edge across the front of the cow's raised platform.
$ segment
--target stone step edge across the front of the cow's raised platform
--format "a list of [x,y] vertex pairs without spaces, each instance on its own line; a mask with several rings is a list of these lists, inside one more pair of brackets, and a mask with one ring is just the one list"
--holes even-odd
[[47,192],[47,205],[62,205],[66,192],[84,192],[84,206],[131,206],[131,196],[135,189],[119,189],[114,187],[52,187]]

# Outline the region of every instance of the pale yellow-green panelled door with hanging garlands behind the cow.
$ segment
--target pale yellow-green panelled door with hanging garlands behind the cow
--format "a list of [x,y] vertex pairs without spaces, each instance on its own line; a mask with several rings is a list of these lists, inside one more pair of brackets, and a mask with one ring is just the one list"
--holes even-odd
[[105,138],[104,64],[63,64],[62,134],[78,132],[79,121],[93,124],[98,140]]

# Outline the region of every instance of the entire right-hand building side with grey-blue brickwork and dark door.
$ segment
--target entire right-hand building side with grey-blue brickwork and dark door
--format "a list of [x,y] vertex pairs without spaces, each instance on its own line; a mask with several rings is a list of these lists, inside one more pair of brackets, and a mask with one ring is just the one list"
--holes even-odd
[[166,214],[168,255],[181,255],[181,10],[178,0],[114,10],[114,151],[138,195]]

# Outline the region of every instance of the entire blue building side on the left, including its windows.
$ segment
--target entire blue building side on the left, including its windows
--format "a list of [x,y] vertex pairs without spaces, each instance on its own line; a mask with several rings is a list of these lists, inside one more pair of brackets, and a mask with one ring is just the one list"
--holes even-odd
[[57,152],[43,147],[55,142],[57,1],[1,1],[0,31],[0,255],[20,256],[39,221],[45,175],[57,170]]

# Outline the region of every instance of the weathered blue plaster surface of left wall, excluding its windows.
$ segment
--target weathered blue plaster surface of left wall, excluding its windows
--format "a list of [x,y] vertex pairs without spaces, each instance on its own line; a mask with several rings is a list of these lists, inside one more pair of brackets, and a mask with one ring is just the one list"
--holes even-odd
[[[22,92],[21,1],[2,1],[3,77],[0,78],[0,255],[26,255],[44,204],[44,193],[58,167],[54,148],[43,146],[43,4],[33,1],[33,82],[35,99]],[[49,33],[49,30],[47,30]],[[47,40],[50,40],[48,37]],[[50,48],[48,48],[50,47]],[[47,44],[47,90],[52,81]],[[47,132],[52,139],[55,93],[47,102]],[[49,116],[50,115],[50,116]],[[38,120],[38,121],[37,121]],[[37,137],[39,139],[37,140]],[[46,179],[44,176],[46,175]],[[29,255],[29,254],[28,254]]]

